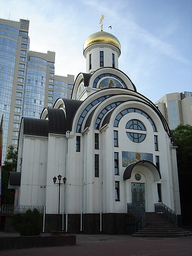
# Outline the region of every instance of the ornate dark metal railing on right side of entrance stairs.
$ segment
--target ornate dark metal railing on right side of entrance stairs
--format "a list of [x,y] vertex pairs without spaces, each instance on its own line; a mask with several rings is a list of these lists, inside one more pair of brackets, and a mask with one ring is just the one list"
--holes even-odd
[[177,226],[177,214],[163,203],[154,204],[156,213],[163,213]]

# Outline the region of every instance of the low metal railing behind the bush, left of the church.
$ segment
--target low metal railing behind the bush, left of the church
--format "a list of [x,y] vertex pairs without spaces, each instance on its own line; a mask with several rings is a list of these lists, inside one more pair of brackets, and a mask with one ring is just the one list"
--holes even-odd
[[3,215],[13,215],[13,214],[23,214],[28,209],[37,209],[41,214],[44,214],[44,206],[31,206],[31,205],[12,205],[3,204],[1,207],[1,214]]

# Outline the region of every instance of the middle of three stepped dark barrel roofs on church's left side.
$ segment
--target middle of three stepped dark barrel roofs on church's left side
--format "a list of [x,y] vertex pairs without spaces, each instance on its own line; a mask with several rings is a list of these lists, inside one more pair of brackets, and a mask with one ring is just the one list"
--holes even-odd
[[47,108],[49,118],[49,133],[65,134],[66,119],[63,110]]

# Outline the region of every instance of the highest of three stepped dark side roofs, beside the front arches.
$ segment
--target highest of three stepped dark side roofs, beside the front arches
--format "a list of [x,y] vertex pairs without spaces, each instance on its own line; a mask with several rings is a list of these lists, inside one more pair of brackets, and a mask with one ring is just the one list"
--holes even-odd
[[62,99],[64,102],[64,107],[66,111],[66,131],[72,130],[73,118],[82,101],[76,99]]

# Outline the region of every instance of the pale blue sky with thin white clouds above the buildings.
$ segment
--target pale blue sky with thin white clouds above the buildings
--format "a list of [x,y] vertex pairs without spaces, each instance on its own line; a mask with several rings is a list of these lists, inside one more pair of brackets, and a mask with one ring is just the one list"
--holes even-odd
[[[86,72],[83,44],[103,30],[119,39],[119,70],[152,102],[192,91],[192,0],[6,0],[0,18],[28,19],[30,50],[55,52],[55,75]],[[109,26],[112,27],[109,28]]]

